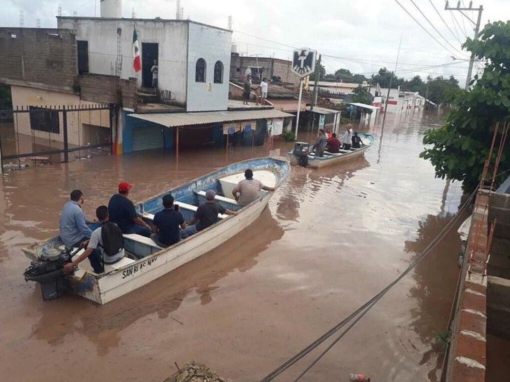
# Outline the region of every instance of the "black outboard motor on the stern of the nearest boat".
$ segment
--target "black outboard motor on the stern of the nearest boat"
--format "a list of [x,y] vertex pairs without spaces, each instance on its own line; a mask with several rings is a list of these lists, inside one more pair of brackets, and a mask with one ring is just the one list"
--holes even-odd
[[57,299],[69,289],[69,275],[62,273],[64,265],[78,252],[71,253],[71,248],[64,250],[51,248],[32,261],[25,273],[25,281],[35,281],[41,284],[43,301]]

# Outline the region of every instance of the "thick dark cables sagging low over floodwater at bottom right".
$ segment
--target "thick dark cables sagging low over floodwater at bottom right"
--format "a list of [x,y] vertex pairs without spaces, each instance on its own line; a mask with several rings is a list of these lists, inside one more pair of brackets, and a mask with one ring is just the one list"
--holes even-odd
[[[360,315],[353,323],[352,325],[350,325],[349,327],[347,327],[347,329],[345,329],[345,331],[343,333],[340,334],[340,336],[333,342],[332,345],[334,345],[336,342],[338,342],[347,332],[349,332],[349,330],[354,327],[354,325],[361,319],[361,317],[363,317],[363,315],[368,312],[368,310],[373,306],[375,305],[375,303],[377,301],[379,301],[382,296],[384,296],[394,285],[397,284],[397,282],[399,282],[402,278],[404,278],[409,272],[411,272],[411,270],[420,262],[422,261],[422,259],[425,259],[425,257],[427,257],[427,255],[434,249],[434,247],[437,245],[437,243],[439,243],[439,241],[442,240],[442,238],[444,236],[446,236],[446,233],[448,233],[448,231],[450,230],[450,228],[453,226],[453,224],[455,224],[455,222],[457,221],[457,219],[460,217],[460,215],[462,214],[462,212],[464,212],[464,209],[469,205],[469,203],[471,202],[471,199],[474,197],[474,195],[476,194],[476,191],[478,191],[478,187],[471,193],[471,195],[469,196],[469,198],[464,202],[464,204],[462,205],[462,207],[460,207],[460,209],[457,211],[457,213],[455,214],[455,216],[450,219],[450,221],[448,221],[448,223],[443,227],[443,229],[441,230],[441,232],[434,238],[434,240],[432,240],[429,245],[427,245],[427,247],[425,247],[425,250],[423,250],[423,252],[413,261],[411,262],[411,264],[399,275],[398,278],[396,278],[395,280],[393,280],[392,282],[390,282],[389,285],[387,285],[387,287],[385,287],[384,289],[382,289],[378,294],[376,294],[372,299],[368,300],[366,303],[364,303],[363,306],[359,307],[357,309],[357,311],[354,311],[354,313],[351,313],[347,318],[345,318],[344,320],[342,320],[341,322],[339,322],[337,325],[335,325],[333,328],[329,329],[328,332],[326,332],[325,334],[323,334],[322,336],[320,336],[318,339],[316,339],[315,341],[313,341],[312,343],[310,343],[310,345],[308,345],[306,348],[304,348],[303,350],[301,350],[299,353],[297,353],[296,355],[294,355],[294,357],[291,357],[289,360],[287,360],[287,362],[284,362],[282,365],[280,365],[280,367],[277,367],[277,369],[275,369],[274,371],[272,371],[270,374],[268,374],[267,376],[265,376],[264,378],[262,378],[260,380],[260,382],[269,382],[269,381],[272,381],[276,376],[282,374],[283,371],[287,370],[289,367],[291,367],[293,364],[295,364],[296,362],[298,362],[298,360],[301,360],[301,358],[303,358],[305,355],[307,355],[308,353],[310,353],[310,351],[314,350],[315,348],[317,348],[317,346],[319,346],[321,343],[323,343],[324,341],[326,341],[326,339],[328,339],[330,336],[332,336],[335,332],[337,332],[339,329],[341,329],[343,326],[345,326],[347,324],[347,322],[350,322],[350,320],[352,320],[354,317],[356,317],[357,315]],[[361,314],[360,314],[361,313]],[[327,350],[331,349],[332,346],[329,346],[329,348],[326,349],[326,352]],[[306,371],[310,370],[311,367],[317,363],[318,360],[320,360],[320,358],[326,354],[326,352],[323,352],[321,355],[319,355],[319,357],[317,357],[313,362],[312,364],[306,369]],[[305,371],[305,372],[306,372]],[[305,373],[302,373],[303,375]],[[302,376],[302,375],[301,375]],[[301,378],[301,376],[299,376],[298,378]],[[296,379],[295,381],[298,381],[298,379]]]

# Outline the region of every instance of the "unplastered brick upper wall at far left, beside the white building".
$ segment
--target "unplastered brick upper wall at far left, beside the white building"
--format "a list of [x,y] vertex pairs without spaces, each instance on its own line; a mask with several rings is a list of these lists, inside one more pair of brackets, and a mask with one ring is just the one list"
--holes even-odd
[[69,29],[0,28],[0,82],[73,91],[76,39]]

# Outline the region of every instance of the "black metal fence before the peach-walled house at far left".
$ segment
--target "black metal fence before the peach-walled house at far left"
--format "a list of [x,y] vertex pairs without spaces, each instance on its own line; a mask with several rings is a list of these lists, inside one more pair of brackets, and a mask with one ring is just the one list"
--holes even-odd
[[111,153],[113,109],[104,105],[0,110],[2,165],[66,163]]

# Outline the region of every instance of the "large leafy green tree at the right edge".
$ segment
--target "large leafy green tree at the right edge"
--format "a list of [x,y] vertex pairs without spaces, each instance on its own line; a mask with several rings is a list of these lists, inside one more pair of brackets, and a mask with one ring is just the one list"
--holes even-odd
[[[482,76],[474,76],[469,91],[459,91],[453,97],[453,110],[446,124],[427,131],[423,138],[424,144],[432,146],[420,156],[432,162],[436,177],[460,180],[467,192],[473,191],[481,179],[495,124],[510,121],[509,36],[510,21],[498,21],[485,25],[478,40],[467,39],[463,48],[476,59],[486,60],[485,71]],[[454,82],[451,78],[446,81]],[[509,168],[510,144],[506,144],[499,172]],[[497,183],[504,177],[497,177]]]

